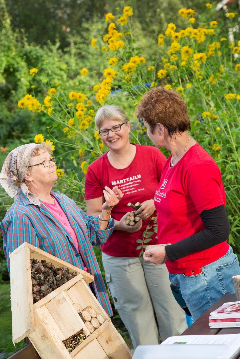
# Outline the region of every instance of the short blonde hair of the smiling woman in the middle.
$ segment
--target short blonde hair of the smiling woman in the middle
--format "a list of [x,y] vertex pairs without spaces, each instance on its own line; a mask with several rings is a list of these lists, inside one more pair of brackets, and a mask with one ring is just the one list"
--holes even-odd
[[95,116],[95,124],[98,129],[100,129],[102,122],[104,120],[114,120],[123,123],[128,123],[128,117],[126,113],[119,106],[106,105],[102,106],[97,110]]

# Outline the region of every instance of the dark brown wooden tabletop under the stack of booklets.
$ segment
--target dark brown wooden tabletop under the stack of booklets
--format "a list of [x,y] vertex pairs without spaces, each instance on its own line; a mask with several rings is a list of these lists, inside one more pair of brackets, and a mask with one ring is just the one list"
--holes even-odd
[[[200,334],[239,334],[240,327],[238,328],[210,328],[208,320],[210,313],[219,308],[226,302],[235,302],[237,300],[236,294],[224,294],[213,306],[211,306],[200,318],[196,320],[187,330],[181,335],[200,335]],[[239,359],[240,355],[237,354],[234,359]]]

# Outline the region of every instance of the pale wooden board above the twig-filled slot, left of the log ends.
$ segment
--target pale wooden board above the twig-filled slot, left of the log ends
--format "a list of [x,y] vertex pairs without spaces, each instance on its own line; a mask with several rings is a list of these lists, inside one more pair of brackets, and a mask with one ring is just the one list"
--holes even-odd
[[86,325],[65,292],[58,294],[57,297],[46,304],[46,307],[61,328],[66,339],[81,329],[85,331],[86,335],[90,335]]

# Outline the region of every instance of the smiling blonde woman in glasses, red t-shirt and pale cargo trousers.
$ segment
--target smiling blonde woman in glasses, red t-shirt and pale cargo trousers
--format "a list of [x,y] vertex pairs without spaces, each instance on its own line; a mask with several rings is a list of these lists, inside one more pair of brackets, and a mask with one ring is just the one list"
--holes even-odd
[[[129,142],[130,123],[120,107],[101,107],[95,122],[109,151],[88,167],[85,182],[88,215],[99,214],[105,186],[119,186],[124,194],[111,213],[114,232],[101,246],[106,282],[134,347],[158,344],[157,323],[162,340],[181,334],[187,327],[184,312],[171,293],[165,265],[144,262],[139,257],[141,249],[136,249],[150,216],[155,215],[153,197],[166,158],[153,146]],[[129,201],[141,202],[137,211],[141,219],[132,227],[125,224]],[[153,233],[149,244],[156,243]]]

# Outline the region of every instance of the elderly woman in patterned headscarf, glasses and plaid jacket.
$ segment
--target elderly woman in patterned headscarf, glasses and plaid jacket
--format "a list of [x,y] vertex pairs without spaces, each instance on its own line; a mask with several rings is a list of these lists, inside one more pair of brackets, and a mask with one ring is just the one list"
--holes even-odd
[[11,151],[0,173],[0,183],[14,204],[0,222],[3,249],[9,253],[23,242],[90,272],[92,290],[111,316],[112,310],[92,245],[103,244],[114,229],[111,210],[123,194],[105,187],[100,215],[87,216],[75,202],[52,192],[57,180],[56,158],[45,144],[25,144]]

